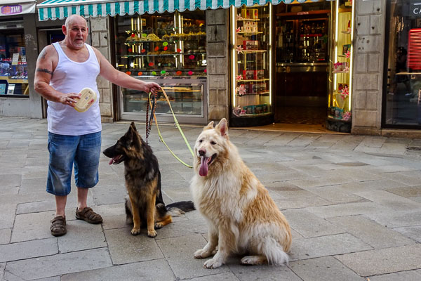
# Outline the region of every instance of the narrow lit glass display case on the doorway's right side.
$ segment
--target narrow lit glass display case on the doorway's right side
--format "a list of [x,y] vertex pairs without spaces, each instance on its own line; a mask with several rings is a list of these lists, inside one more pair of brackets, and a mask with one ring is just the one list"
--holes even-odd
[[336,1],[334,56],[330,65],[327,129],[351,131],[352,2]]

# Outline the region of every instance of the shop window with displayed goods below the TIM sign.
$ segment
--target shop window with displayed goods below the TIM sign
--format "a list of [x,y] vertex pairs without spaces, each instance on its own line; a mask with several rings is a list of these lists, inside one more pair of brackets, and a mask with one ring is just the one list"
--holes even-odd
[[0,22],[0,97],[29,98],[22,21]]

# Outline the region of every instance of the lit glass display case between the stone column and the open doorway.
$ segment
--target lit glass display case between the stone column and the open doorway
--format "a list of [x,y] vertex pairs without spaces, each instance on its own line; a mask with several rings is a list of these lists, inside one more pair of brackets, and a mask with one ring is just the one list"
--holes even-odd
[[272,123],[272,4],[230,9],[230,124]]

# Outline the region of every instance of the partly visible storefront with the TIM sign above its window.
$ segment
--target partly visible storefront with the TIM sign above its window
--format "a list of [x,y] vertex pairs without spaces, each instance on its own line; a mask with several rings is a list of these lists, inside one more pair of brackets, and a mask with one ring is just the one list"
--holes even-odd
[[35,0],[0,3],[0,112],[2,116],[41,117],[34,94],[36,63]]

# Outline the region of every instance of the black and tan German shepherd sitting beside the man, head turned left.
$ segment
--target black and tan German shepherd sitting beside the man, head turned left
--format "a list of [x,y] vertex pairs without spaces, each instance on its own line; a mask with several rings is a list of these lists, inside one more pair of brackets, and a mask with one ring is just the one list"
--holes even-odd
[[128,223],[133,222],[132,235],[138,235],[141,223],[146,221],[147,235],[155,237],[155,228],[171,223],[171,215],[178,216],[194,210],[192,201],[175,202],[167,206],[163,203],[158,159],[152,148],[140,137],[134,122],[115,145],[102,153],[111,158],[109,164],[124,162],[129,199],[126,199],[125,204],[126,217]]

